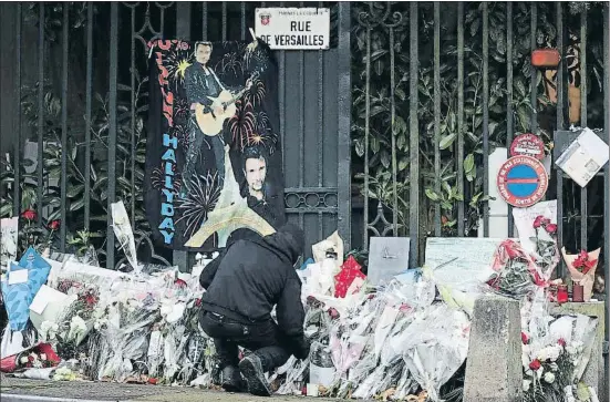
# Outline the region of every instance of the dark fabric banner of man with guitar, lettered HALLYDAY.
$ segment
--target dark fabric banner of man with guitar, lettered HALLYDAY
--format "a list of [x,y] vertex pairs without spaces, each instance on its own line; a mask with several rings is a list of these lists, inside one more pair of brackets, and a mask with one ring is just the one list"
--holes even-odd
[[[229,237],[273,233],[285,210],[270,49],[258,40],[149,45],[144,190],[154,238],[209,250]],[[254,178],[254,165],[265,166],[262,178]],[[252,183],[265,190],[252,196]]]

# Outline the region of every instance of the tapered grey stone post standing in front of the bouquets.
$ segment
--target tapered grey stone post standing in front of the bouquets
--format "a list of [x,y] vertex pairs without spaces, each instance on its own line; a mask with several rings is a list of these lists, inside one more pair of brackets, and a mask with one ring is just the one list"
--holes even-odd
[[517,300],[476,300],[471,327],[464,402],[521,402],[521,322]]

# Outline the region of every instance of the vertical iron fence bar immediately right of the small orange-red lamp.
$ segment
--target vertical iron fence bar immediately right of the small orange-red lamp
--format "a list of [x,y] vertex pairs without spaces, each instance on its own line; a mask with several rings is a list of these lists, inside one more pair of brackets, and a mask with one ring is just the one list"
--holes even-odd
[[[564,4],[558,1],[556,2],[556,16],[557,16],[557,49],[561,59],[559,60],[559,65],[557,66],[557,130],[564,130],[565,126],[565,104],[566,104],[566,32],[564,29]],[[560,173],[560,172],[559,172]],[[564,175],[557,175],[557,241],[558,244],[564,244]],[[565,265],[564,259],[559,259],[557,266],[557,277],[564,278],[565,276]]]

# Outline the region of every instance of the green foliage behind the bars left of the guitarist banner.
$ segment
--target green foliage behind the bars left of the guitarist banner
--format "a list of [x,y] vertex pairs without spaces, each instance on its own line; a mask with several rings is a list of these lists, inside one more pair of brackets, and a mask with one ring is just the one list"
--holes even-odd
[[[146,153],[144,121],[142,113],[147,111],[145,104],[147,92],[144,87],[147,78],[139,79],[135,73],[134,99],[135,99],[135,120],[132,120],[132,110],[130,102],[120,101],[116,109],[116,159],[115,159],[115,179],[116,179],[116,199],[123,200],[127,212],[132,213],[135,227],[142,230],[148,228],[143,205],[144,188],[144,161]],[[128,99],[122,94],[130,94],[131,87],[118,85],[118,99]],[[32,126],[33,132],[38,130],[38,89],[23,89],[22,110],[25,121]],[[69,124],[68,127],[68,163],[65,166],[66,194],[65,207],[66,216],[66,244],[75,252],[84,252],[89,244],[96,248],[103,246],[105,236],[101,233],[106,231],[107,223],[107,184],[108,184],[108,135],[110,135],[110,114],[107,96],[95,95],[91,121],[91,164],[85,166],[85,154],[87,152],[85,135],[81,131],[84,123]],[[21,166],[21,210],[33,209],[41,212],[41,206],[48,207],[49,213],[44,217],[44,227],[29,225],[28,230],[20,230],[20,236],[24,237],[22,244],[35,241],[43,233],[49,223],[61,218],[60,178],[62,175],[62,148],[61,148],[61,101],[55,94],[44,89],[43,103],[44,125],[43,125],[43,182],[40,184],[43,188],[42,200],[38,199],[39,178],[38,172],[27,174],[25,167],[32,165],[32,161],[23,159]],[[135,158],[132,157],[132,140],[135,148],[133,150]],[[132,169],[132,163],[134,168]],[[10,190],[14,182],[14,167],[4,163],[0,175],[0,185],[3,186],[3,196],[0,199],[0,217],[12,216],[13,199]],[[85,169],[90,172],[90,192],[85,194]],[[133,182],[133,188],[132,188]],[[135,189],[135,190],[132,190]],[[85,198],[90,200],[90,230],[83,230],[85,227]],[[135,208],[131,210],[132,202]],[[23,226],[21,226],[23,228]],[[35,231],[35,233],[34,233]],[[56,239],[55,239],[56,241]]]

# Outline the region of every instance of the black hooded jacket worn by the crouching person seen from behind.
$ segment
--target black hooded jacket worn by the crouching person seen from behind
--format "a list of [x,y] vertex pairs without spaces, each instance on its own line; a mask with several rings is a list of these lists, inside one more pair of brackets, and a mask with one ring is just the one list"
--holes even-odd
[[285,228],[263,238],[251,236],[229,244],[199,277],[207,290],[201,308],[251,323],[268,320],[276,306],[280,330],[302,337],[301,280],[293,268],[302,244],[302,231]]

